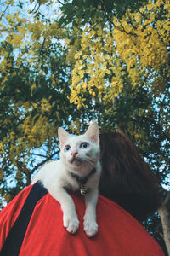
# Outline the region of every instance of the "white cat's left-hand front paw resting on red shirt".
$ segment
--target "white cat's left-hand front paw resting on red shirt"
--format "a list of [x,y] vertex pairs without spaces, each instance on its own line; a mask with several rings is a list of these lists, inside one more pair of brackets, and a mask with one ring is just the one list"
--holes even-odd
[[65,229],[72,234],[76,233],[79,228],[79,220],[77,216],[76,217],[64,216],[63,223],[64,223]]

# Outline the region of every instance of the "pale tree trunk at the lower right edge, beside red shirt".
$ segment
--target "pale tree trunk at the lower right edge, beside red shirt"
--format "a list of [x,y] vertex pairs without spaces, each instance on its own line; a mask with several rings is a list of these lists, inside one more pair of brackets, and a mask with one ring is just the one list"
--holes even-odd
[[170,256],[170,191],[167,192],[167,196],[162,206],[158,209],[158,213],[161,218],[161,225],[163,230],[163,238],[167,247],[167,253]]

